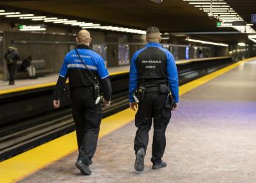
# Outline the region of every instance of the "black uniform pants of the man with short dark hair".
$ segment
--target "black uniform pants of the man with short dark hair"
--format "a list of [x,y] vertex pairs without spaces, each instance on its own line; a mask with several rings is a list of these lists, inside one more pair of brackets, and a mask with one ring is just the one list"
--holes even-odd
[[152,145],[152,163],[160,163],[166,145],[165,131],[171,119],[170,115],[164,117],[163,109],[167,98],[167,93],[148,92],[145,93],[143,102],[139,103],[138,111],[135,116],[135,125],[138,128],[134,139],[134,150],[138,151],[148,146],[148,132],[154,119],[154,135]]

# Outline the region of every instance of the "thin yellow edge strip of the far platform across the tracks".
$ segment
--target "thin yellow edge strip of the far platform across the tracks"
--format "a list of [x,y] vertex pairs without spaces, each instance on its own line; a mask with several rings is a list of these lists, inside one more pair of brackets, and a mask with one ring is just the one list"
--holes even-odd
[[[124,70],[120,72],[112,72],[109,74],[110,76],[118,75],[118,74],[125,74],[128,73],[129,70]],[[7,89],[7,90],[0,90],[0,95],[6,94],[6,93],[13,93],[13,92],[21,92],[21,91],[26,91],[26,90],[33,90],[36,88],[44,88],[48,86],[54,86],[56,82],[51,82],[51,83],[45,83],[45,84],[35,84],[31,86],[22,86],[20,88],[12,88],[12,89]]]

